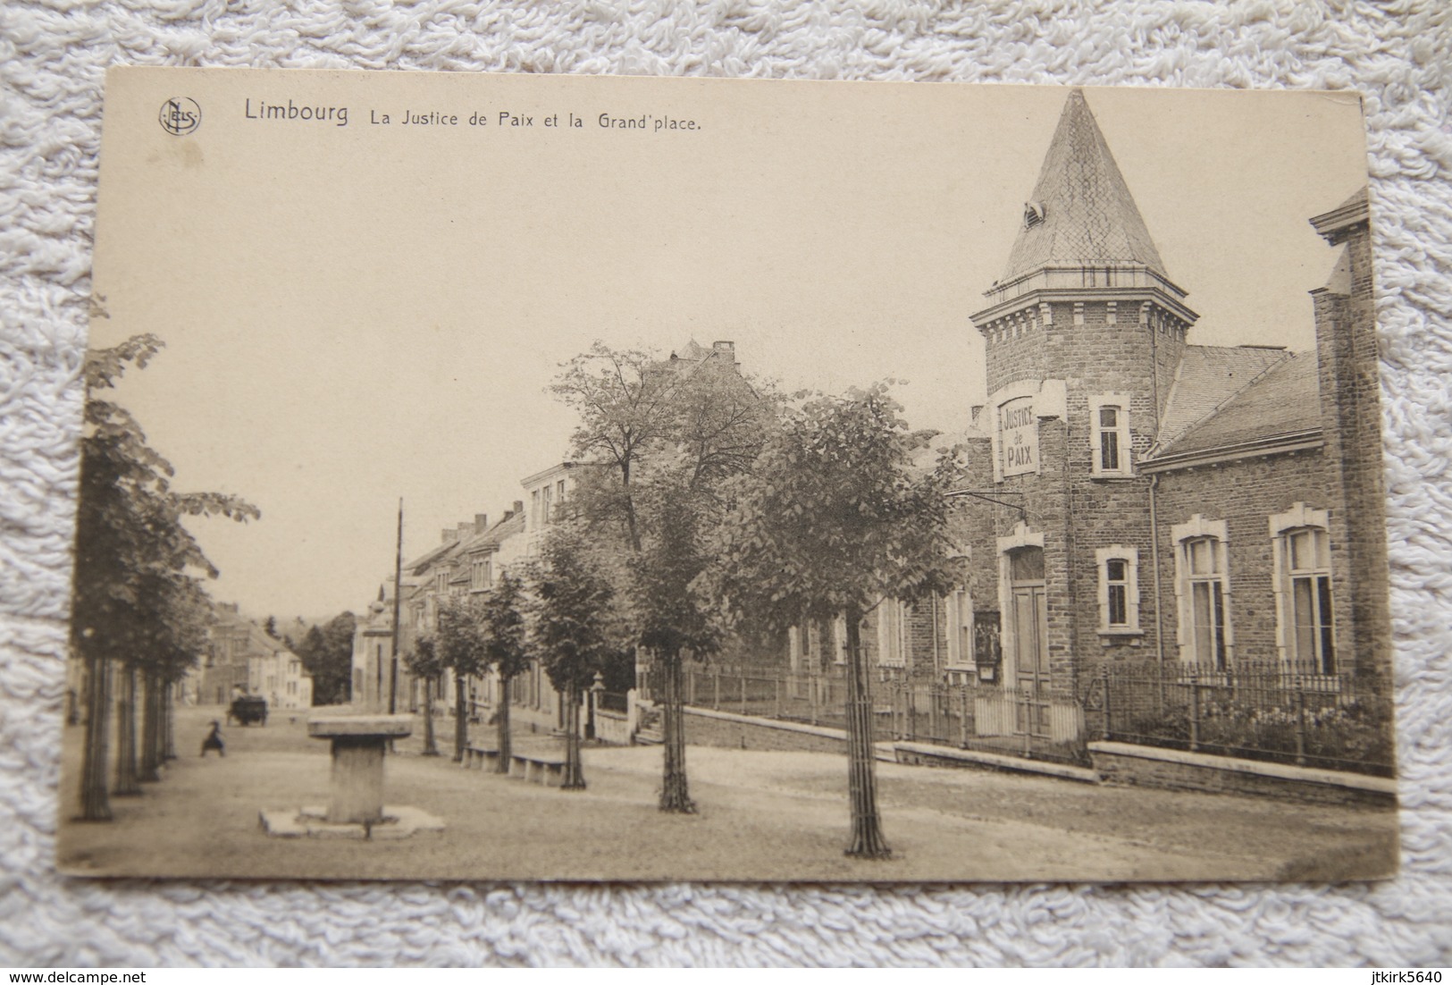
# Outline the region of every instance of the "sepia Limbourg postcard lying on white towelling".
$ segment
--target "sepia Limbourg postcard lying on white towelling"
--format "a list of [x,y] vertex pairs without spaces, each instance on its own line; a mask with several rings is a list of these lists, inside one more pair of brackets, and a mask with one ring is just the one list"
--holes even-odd
[[1355,94],[106,86],[64,872],[1395,872]]

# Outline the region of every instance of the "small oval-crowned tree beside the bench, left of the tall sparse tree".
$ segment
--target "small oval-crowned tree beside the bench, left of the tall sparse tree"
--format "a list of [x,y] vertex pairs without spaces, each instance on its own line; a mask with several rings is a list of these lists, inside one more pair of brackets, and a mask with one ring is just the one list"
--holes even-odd
[[530,638],[550,683],[565,696],[566,790],[585,789],[579,697],[624,646],[608,558],[575,524],[556,526],[530,572]]

